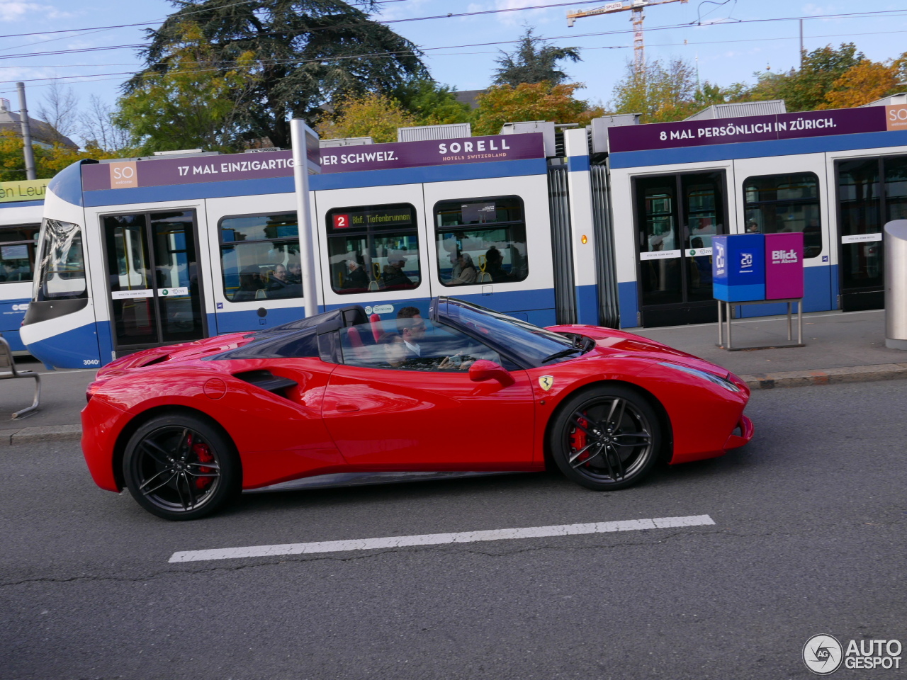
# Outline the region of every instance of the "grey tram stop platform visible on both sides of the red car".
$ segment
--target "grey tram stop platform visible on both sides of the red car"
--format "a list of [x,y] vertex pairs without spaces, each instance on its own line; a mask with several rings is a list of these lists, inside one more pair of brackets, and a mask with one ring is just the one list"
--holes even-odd
[[[663,328],[628,328],[680,350],[724,366],[742,377],[752,389],[809,384],[857,383],[907,377],[907,352],[885,347],[885,313],[816,312],[803,317],[803,347],[727,352],[717,347],[717,325],[675,325]],[[735,342],[772,345],[787,337],[785,316],[739,319]],[[41,374],[41,406],[18,420],[12,414],[32,401],[34,384],[4,381],[0,390],[0,446],[11,442],[74,441],[81,434],[79,412],[85,388],[95,371],[46,371],[29,357],[16,365]]]

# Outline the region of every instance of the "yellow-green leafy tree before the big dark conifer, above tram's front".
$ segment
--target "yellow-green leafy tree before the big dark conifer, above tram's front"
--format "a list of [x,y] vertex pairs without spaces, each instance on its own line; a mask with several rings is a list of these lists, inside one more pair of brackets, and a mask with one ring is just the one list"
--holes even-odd
[[[240,53],[232,68],[213,68],[219,53],[200,26],[187,22],[179,30],[180,39],[167,54],[167,70],[133,78],[112,121],[129,130],[132,143],[145,153],[199,146],[237,151],[243,145],[239,118],[258,80],[254,55]],[[94,118],[102,127],[103,112],[95,112]]]

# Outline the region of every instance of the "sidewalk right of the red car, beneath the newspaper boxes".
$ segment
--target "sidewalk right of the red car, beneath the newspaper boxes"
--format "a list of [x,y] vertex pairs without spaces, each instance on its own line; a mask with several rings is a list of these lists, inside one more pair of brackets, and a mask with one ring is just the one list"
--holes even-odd
[[[735,347],[787,342],[786,316],[735,319],[733,324]],[[796,334],[796,318],[794,324]],[[627,330],[724,366],[756,389],[907,377],[907,352],[885,347],[881,309],[805,314],[805,347],[727,352],[716,346],[716,324]]]

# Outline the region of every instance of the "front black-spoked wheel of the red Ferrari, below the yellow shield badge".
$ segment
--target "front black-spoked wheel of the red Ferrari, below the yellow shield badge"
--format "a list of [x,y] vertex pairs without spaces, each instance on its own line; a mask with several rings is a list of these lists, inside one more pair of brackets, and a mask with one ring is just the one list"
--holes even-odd
[[596,491],[642,480],[658,461],[658,414],[636,391],[602,385],[572,395],[549,432],[551,456],[568,479]]

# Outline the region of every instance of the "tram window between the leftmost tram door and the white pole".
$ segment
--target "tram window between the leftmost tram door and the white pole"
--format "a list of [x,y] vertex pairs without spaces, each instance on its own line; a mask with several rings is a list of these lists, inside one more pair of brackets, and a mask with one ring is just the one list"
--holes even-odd
[[295,212],[223,218],[219,233],[224,296],[228,300],[302,297]]

